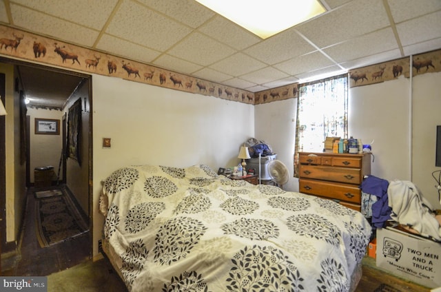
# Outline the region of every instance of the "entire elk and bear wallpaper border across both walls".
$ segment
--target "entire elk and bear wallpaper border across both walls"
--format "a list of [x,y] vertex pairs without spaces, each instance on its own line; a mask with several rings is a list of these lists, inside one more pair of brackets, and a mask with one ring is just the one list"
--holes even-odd
[[[298,96],[298,83],[249,92],[0,24],[0,55],[257,105]],[[441,71],[441,49],[412,56],[413,75]],[[409,77],[410,57],[349,70],[356,87]]]

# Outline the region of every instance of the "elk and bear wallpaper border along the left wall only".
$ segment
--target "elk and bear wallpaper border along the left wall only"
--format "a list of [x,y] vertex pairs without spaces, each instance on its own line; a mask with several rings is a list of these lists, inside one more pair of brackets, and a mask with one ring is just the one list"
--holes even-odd
[[[3,43],[2,43],[3,41]],[[0,54],[172,90],[254,104],[254,93],[0,25]]]

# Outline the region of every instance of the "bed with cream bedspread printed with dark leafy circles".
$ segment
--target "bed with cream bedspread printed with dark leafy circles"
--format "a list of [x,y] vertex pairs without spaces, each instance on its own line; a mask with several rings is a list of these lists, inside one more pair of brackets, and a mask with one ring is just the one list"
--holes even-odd
[[99,205],[129,291],[354,291],[371,236],[357,211],[206,165],[122,167]]

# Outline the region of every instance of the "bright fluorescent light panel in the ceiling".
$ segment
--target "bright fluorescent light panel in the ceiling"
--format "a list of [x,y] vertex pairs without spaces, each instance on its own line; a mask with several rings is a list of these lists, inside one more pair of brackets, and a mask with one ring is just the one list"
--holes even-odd
[[262,39],[267,39],[326,11],[318,0],[196,1]]

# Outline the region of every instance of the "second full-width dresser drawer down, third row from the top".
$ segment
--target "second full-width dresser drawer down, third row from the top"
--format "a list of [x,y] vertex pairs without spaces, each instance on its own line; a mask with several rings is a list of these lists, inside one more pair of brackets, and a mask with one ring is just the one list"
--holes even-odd
[[329,183],[318,180],[300,178],[299,191],[304,194],[312,194],[360,205],[361,191],[359,187],[340,183]]

